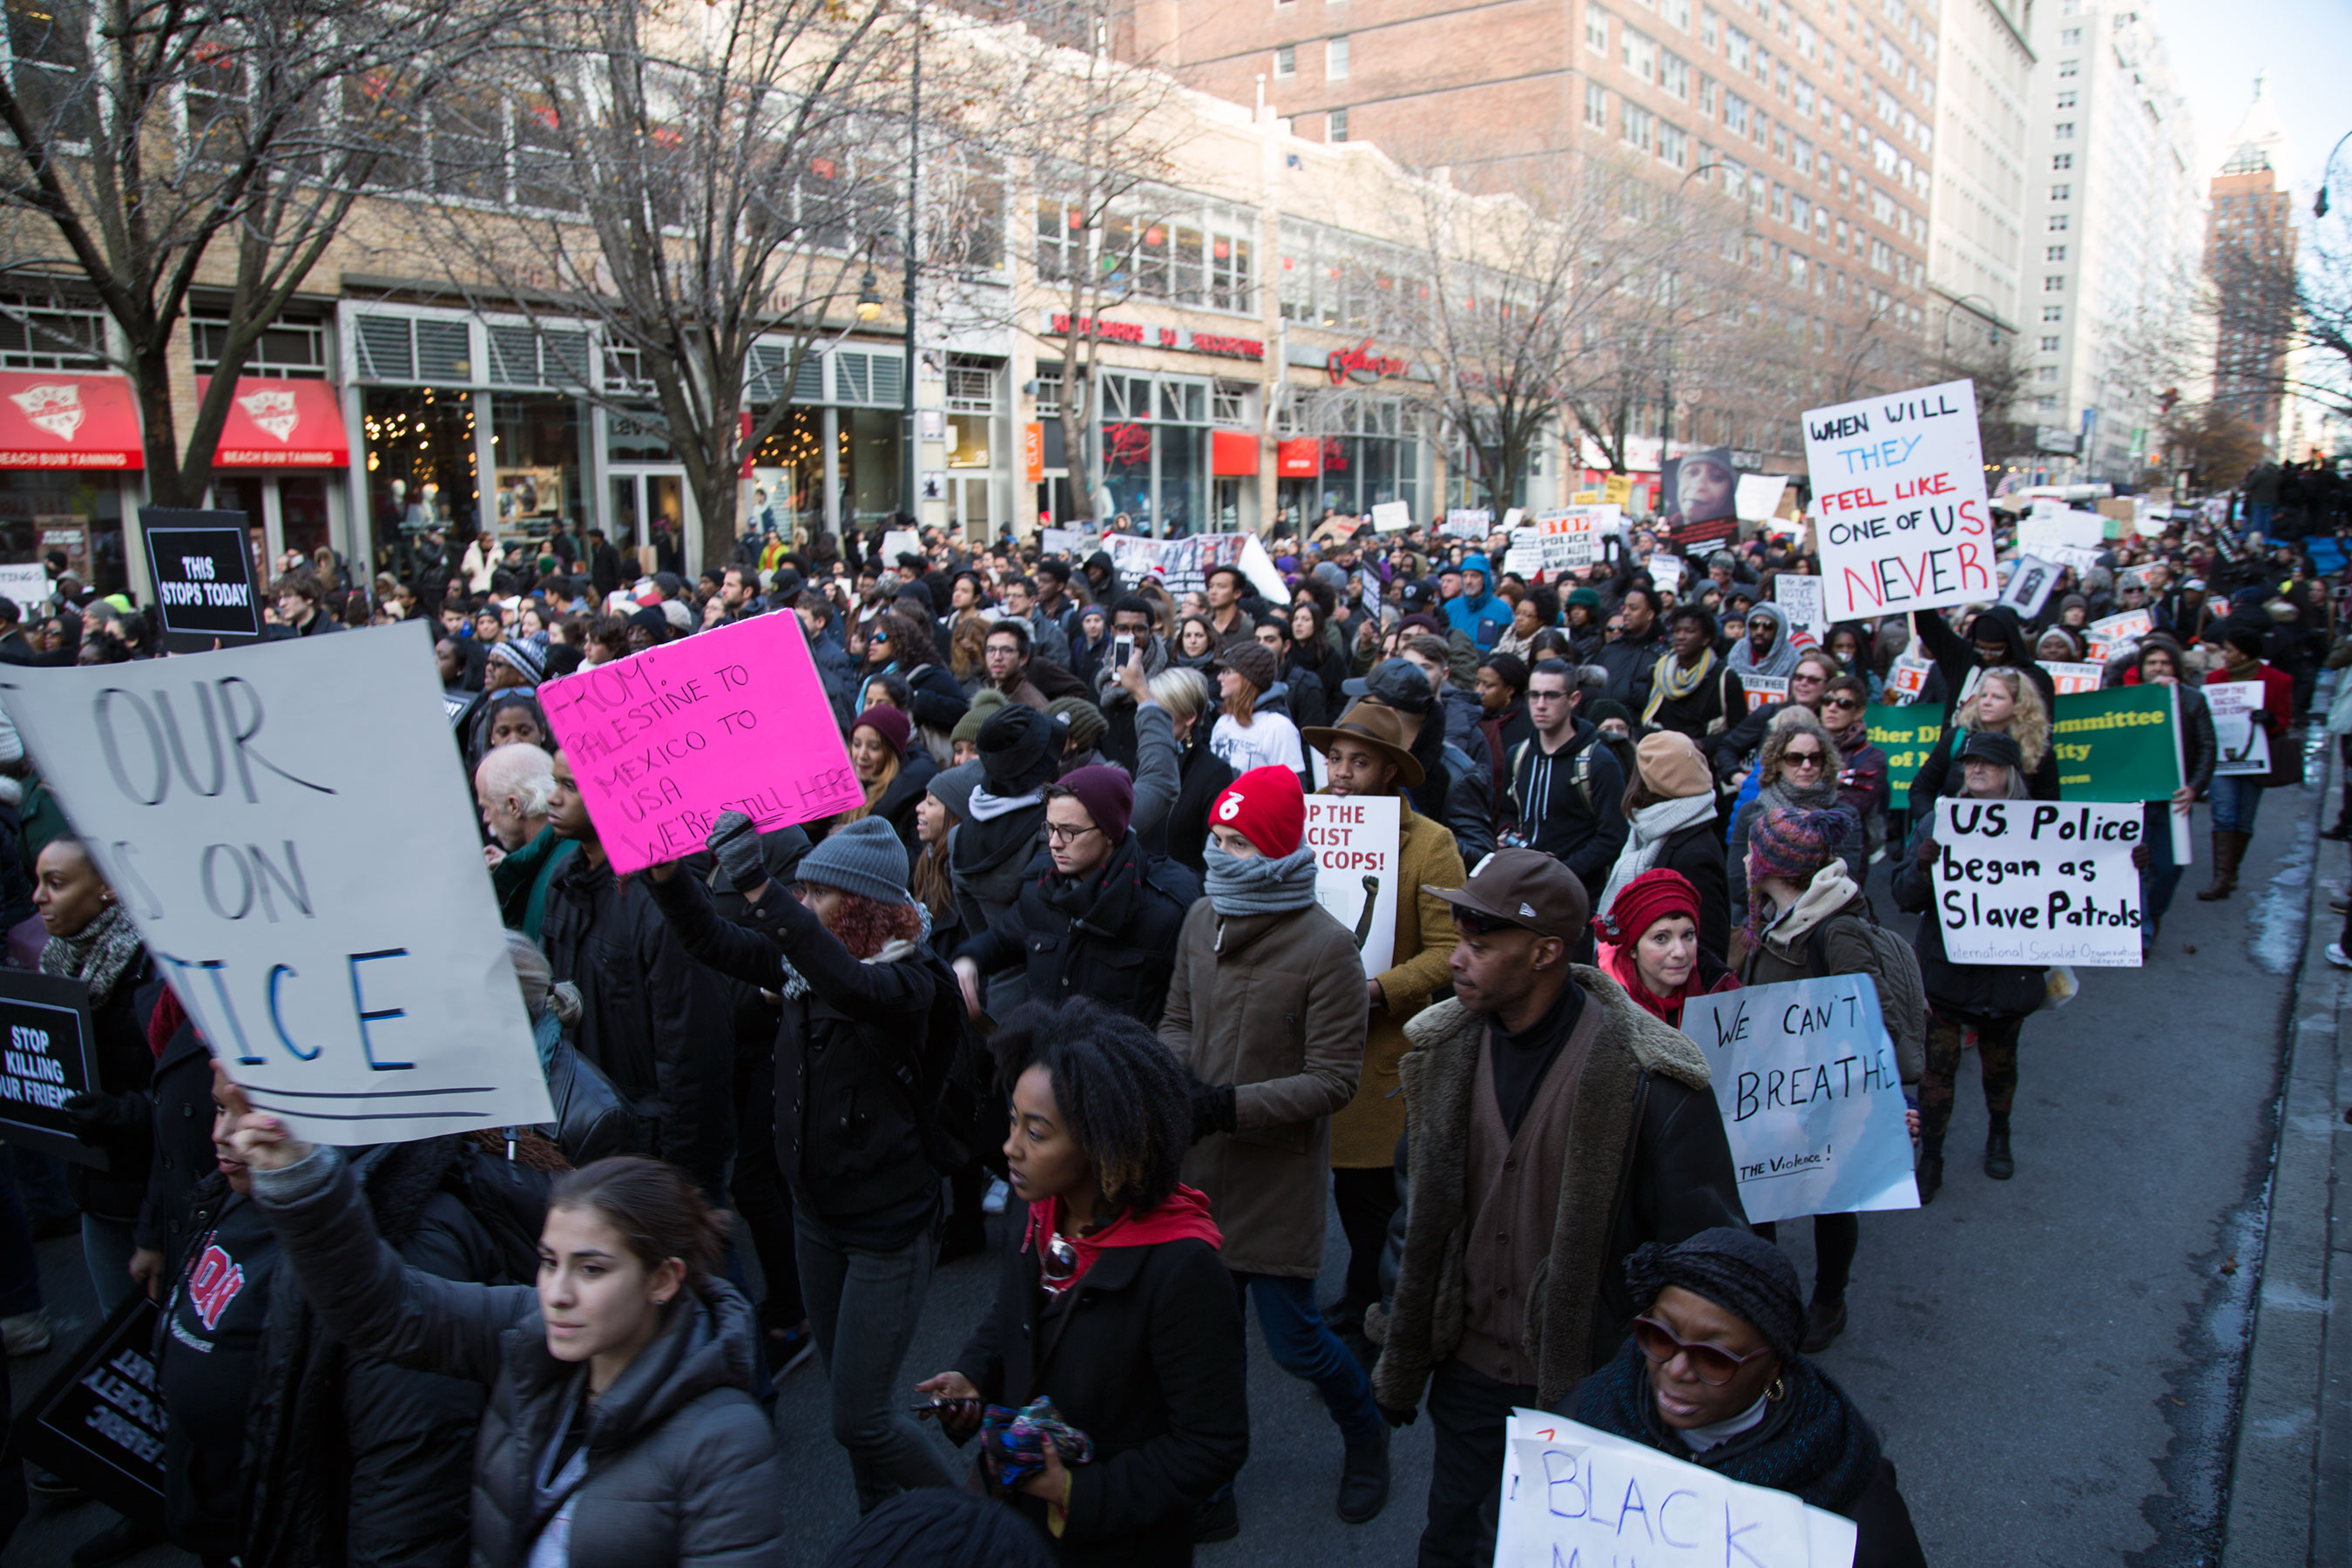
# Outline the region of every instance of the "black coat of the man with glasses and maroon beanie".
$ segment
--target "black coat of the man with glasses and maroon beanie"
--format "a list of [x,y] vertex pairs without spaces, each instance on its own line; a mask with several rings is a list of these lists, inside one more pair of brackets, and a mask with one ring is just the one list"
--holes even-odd
[[1023,964],[1030,1001],[1094,997],[1157,1027],[1176,936],[1195,898],[1200,879],[1171,860],[1152,860],[1129,832],[1087,886],[1054,870],[1025,882],[1014,907],[955,957],[971,959],[983,976]]

